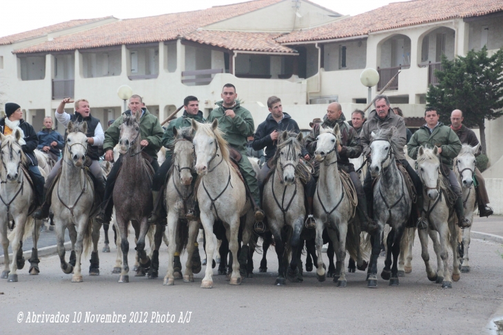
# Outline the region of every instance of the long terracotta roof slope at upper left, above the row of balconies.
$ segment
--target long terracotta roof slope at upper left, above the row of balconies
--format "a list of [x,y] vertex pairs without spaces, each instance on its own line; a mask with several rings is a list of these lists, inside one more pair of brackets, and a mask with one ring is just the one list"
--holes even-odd
[[193,12],[125,19],[86,30],[85,32],[79,32],[79,34],[59,37],[53,41],[32,45],[15,52],[49,52],[99,48],[108,45],[170,41],[190,34],[200,27],[265,8],[280,1],[283,0],[247,1],[234,5],[195,10]]

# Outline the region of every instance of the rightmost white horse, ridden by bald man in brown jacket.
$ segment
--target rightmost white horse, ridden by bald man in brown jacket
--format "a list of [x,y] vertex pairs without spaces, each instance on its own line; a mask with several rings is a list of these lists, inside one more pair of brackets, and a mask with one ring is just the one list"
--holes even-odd
[[[475,174],[475,154],[478,152],[480,143],[471,147],[464,144],[460,153],[454,160],[454,174],[458,178],[463,192],[463,205],[466,219],[473,222],[473,212],[477,208],[477,196],[473,187],[473,176]],[[462,230],[462,265],[461,272],[470,272],[468,249],[470,247],[471,227]]]

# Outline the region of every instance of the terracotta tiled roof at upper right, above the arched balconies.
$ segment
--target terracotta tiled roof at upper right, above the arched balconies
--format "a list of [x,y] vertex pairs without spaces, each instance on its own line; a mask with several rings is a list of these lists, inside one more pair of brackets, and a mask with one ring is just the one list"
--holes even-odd
[[370,32],[448,19],[477,17],[503,10],[502,0],[413,0],[390,3],[325,26],[291,32],[276,41],[291,43],[356,37]]

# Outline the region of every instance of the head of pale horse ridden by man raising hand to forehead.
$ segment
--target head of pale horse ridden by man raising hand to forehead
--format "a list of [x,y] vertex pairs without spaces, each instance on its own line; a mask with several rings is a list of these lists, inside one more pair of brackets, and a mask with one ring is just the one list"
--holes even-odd
[[85,162],[88,152],[88,123],[72,123],[66,125],[65,156],[76,167],[81,167]]

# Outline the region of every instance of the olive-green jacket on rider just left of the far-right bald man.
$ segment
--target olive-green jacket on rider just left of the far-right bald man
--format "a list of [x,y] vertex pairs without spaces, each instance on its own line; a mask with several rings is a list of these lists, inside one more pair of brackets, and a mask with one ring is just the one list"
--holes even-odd
[[442,163],[449,166],[451,170],[453,159],[458,156],[461,150],[461,141],[458,135],[442,122],[438,124],[438,127],[431,134],[428,126],[423,125],[412,135],[411,141],[407,143],[407,153],[411,159],[418,159],[418,150],[421,145],[430,149],[434,145],[442,148],[440,154]]

